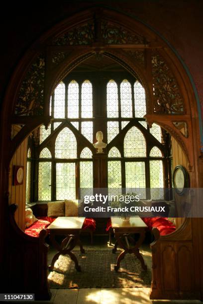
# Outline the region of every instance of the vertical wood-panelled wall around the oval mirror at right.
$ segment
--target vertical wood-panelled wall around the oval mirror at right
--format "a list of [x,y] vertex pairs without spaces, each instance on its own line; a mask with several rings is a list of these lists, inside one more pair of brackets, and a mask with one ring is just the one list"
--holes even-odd
[[[178,142],[173,137],[171,138],[171,141],[172,141],[173,170],[178,165],[182,165],[187,169],[188,161],[187,161],[187,158],[186,158],[181,146],[178,144]],[[178,206],[178,203],[181,204],[181,200],[184,200],[184,195],[179,196],[178,194],[176,194],[175,200],[176,200],[177,206]],[[184,218],[176,218],[176,220],[175,220],[176,228],[179,228],[181,226],[181,224],[183,223],[183,221],[184,221]]]

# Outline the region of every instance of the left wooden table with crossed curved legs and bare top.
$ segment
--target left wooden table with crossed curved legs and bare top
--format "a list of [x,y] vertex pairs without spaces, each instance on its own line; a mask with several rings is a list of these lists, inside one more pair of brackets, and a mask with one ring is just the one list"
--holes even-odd
[[[80,241],[80,231],[83,226],[85,218],[78,217],[58,217],[51,225],[47,227],[50,231],[50,240],[53,246],[59,251],[57,252],[49,266],[49,270],[52,271],[54,268],[54,263],[59,258],[60,254],[68,254],[71,259],[75,262],[75,267],[77,271],[81,271],[81,267],[78,264],[78,259],[73,252],[73,248],[79,244],[82,253],[85,253],[85,249]],[[66,235],[59,244],[55,235]]]

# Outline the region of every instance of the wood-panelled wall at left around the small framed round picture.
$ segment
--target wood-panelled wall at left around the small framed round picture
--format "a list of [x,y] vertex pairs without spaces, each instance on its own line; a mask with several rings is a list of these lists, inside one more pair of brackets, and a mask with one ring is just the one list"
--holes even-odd
[[[19,131],[18,126],[13,126],[12,136],[15,136]],[[13,166],[24,166],[24,177],[22,185],[13,185]],[[18,209],[15,212],[15,221],[19,228],[24,230],[25,226],[25,201],[26,201],[26,167],[27,167],[27,139],[18,147],[10,162],[9,170],[9,198],[10,204],[17,204]]]

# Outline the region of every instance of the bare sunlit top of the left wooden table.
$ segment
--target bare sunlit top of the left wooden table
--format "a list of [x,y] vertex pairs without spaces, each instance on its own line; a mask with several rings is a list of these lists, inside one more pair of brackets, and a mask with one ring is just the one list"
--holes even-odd
[[81,229],[85,218],[58,217],[47,229]]

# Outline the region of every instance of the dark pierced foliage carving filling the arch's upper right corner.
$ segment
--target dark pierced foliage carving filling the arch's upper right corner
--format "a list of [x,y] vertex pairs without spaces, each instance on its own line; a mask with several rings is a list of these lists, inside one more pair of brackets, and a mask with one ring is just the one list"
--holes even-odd
[[152,53],[152,76],[154,84],[154,112],[182,113],[183,97],[177,80],[161,55]]

